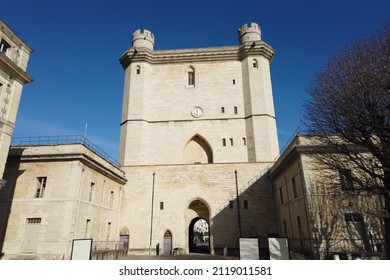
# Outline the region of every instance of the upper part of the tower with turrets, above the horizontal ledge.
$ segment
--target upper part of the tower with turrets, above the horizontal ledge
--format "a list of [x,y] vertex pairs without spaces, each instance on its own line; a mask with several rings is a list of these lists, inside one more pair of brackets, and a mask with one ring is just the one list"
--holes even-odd
[[256,23],[242,25],[238,35],[238,47],[155,51],[153,33],[133,33],[120,59],[123,166],[205,161],[188,158],[197,149],[208,163],[275,159],[274,51]]

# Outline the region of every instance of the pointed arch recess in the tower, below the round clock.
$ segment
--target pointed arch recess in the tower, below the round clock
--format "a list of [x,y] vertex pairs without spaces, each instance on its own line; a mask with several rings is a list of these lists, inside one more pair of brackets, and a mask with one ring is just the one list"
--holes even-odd
[[213,163],[213,152],[210,145],[203,137],[195,135],[184,147],[183,161],[187,164]]

